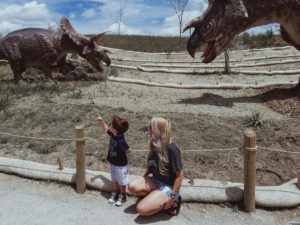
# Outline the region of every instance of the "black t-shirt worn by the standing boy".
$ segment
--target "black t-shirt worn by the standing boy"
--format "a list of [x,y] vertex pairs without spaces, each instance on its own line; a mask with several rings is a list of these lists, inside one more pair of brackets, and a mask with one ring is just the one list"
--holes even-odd
[[126,166],[128,163],[125,151],[129,149],[124,135],[114,136],[108,129],[107,134],[110,136],[107,160],[116,166]]

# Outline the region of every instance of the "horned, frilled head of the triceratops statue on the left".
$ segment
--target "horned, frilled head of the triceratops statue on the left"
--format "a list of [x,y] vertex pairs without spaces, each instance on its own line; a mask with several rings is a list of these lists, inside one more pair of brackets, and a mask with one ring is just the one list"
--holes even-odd
[[105,62],[107,66],[111,61],[107,53],[108,50],[97,45],[97,40],[101,38],[106,32],[94,35],[91,38],[78,34],[66,17],[61,18],[61,27],[68,37],[75,43],[74,50],[85,60],[87,60],[98,71],[102,71],[101,61]]

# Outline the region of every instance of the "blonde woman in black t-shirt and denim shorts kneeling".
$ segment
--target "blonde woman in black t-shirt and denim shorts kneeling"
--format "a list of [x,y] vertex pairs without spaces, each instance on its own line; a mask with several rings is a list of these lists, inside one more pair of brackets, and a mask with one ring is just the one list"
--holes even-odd
[[147,170],[143,177],[129,183],[128,190],[145,196],[137,205],[140,215],[149,216],[163,209],[171,215],[178,215],[182,201],[179,194],[183,168],[180,151],[171,141],[171,123],[165,118],[154,117],[148,131],[150,151]]

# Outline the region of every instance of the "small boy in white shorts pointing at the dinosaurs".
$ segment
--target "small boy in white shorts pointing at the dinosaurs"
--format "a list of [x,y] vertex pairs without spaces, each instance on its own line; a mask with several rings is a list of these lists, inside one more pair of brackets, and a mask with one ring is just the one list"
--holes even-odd
[[129,124],[127,120],[115,115],[109,125],[103,121],[100,115],[98,115],[97,121],[110,136],[107,160],[110,163],[113,191],[108,202],[121,206],[126,201],[126,185],[129,182],[127,154],[131,152],[131,149],[124,137]]

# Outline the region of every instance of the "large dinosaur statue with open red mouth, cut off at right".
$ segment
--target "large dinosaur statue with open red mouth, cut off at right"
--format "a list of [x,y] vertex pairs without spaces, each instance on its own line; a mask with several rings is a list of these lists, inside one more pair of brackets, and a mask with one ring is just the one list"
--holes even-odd
[[300,50],[300,0],[209,0],[202,16],[183,31],[195,28],[187,49],[192,57],[208,44],[203,62],[212,62],[237,34],[256,26],[279,23],[282,39]]

